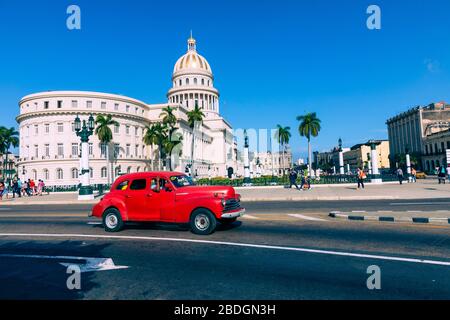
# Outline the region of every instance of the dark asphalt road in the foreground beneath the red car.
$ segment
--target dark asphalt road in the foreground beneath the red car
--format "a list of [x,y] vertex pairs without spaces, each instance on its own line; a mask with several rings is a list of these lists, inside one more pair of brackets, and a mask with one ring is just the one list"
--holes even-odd
[[[448,226],[267,218],[208,237],[160,224],[108,234],[84,207],[27,208],[0,211],[0,299],[450,299]],[[61,263],[79,258],[128,268],[82,273],[69,290]],[[372,265],[380,290],[367,288]]]

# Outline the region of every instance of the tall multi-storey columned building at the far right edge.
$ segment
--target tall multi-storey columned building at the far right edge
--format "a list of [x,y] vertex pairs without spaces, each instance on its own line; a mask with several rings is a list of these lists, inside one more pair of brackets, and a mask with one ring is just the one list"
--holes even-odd
[[[427,152],[425,139],[450,128],[450,105],[445,102],[418,106],[403,112],[386,122],[390,142],[391,166],[396,166],[399,158],[408,151],[426,170],[427,161],[421,159]],[[431,161],[428,157],[428,161]]]

